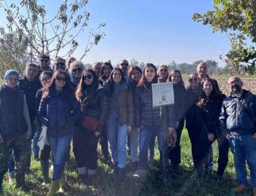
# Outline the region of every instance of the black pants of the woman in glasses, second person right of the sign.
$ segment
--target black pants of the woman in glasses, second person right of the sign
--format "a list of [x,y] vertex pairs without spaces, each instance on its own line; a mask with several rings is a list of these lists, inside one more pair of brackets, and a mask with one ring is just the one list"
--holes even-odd
[[196,151],[196,146],[199,139],[200,128],[197,122],[188,122],[188,121],[186,121],[186,128],[187,128],[188,136],[191,142],[191,153],[192,153],[193,163],[195,165],[195,160],[196,160],[195,151]]

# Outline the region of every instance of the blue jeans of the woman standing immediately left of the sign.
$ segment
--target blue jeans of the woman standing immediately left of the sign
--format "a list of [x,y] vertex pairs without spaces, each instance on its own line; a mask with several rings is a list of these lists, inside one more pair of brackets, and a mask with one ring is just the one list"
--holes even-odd
[[147,162],[147,149],[148,145],[150,144],[150,140],[152,138],[153,133],[157,135],[158,141],[158,150],[160,151],[160,166],[161,166],[161,154],[162,154],[162,146],[163,146],[163,138],[161,133],[161,127],[147,127],[144,125],[140,126],[140,133],[139,133],[139,166],[143,169],[148,168]]

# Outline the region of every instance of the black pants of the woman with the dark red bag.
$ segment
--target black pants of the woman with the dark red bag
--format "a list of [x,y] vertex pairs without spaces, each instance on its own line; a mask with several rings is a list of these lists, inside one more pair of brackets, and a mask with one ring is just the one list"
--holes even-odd
[[94,132],[74,132],[73,151],[78,167],[88,167],[95,170],[97,167],[97,145],[99,137]]

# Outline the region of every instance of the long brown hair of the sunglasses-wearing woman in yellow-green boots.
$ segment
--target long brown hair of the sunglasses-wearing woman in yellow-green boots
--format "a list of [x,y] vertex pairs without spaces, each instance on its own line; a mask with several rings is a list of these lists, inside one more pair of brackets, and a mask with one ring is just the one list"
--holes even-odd
[[47,99],[51,97],[52,92],[55,90],[55,79],[59,74],[64,74],[66,76],[66,84],[63,86],[63,89],[60,93],[60,95],[62,97],[68,97],[70,95],[70,86],[69,86],[69,82],[68,82],[68,75],[66,72],[63,72],[62,70],[57,70],[53,73],[52,78],[49,82],[49,84],[46,85],[46,87],[44,88],[44,91],[42,92],[42,98]]

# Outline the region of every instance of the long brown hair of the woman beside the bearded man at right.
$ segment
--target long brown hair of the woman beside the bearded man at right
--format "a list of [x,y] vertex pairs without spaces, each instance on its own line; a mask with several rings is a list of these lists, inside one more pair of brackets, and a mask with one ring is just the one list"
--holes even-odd
[[206,81],[211,83],[212,91],[209,96],[206,96],[205,92],[202,91],[201,95],[199,96],[199,101],[197,102],[197,106],[199,106],[201,108],[203,108],[207,102],[214,103],[216,101],[217,95],[219,94],[219,92],[217,91],[216,85],[214,83],[214,80],[212,80],[211,78],[204,78],[201,81],[202,88],[204,86],[204,82],[206,82]]

